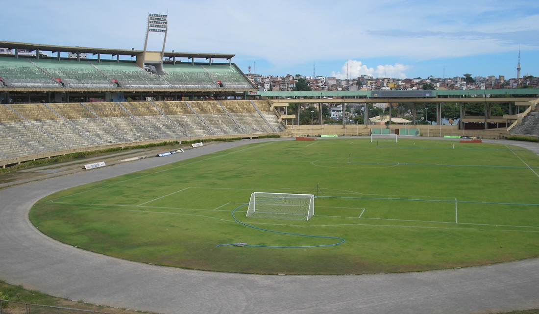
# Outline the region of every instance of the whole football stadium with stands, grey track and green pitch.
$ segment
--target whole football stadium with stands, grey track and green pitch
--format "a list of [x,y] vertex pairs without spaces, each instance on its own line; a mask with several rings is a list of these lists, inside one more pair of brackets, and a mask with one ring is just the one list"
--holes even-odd
[[[166,22],[150,14],[147,38]],[[262,92],[234,54],[164,41],[0,46],[13,51],[0,54],[4,170],[102,152],[0,186],[8,283],[157,313],[539,308],[536,89]],[[288,112],[327,97],[410,103],[414,120],[416,104],[448,101],[485,115],[299,125]],[[518,113],[492,117],[495,103]],[[2,313],[24,312],[10,303]]]

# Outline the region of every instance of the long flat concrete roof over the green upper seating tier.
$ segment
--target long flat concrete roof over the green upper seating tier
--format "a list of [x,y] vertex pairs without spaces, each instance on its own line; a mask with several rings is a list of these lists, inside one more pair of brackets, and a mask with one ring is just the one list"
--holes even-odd
[[[107,49],[107,48],[91,48],[91,47],[79,47],[79,46],[57,46],[57,45],[42,45],[42,44],[29,44],[18,42],[4,42],[0,41],[0,47],[8,49],[26,49],[30,51],[51,51],[51,52],[71,52],[71,53],[91,53],[91,54],[112,54],[112,56],[137,56],[141,54],[143,50],[135,49]],[[165,51],[164,57],[176,57],[176,58],[217,58],[230,60],[236,54],[231,53],[198,53],[198,52],[173,52]]]

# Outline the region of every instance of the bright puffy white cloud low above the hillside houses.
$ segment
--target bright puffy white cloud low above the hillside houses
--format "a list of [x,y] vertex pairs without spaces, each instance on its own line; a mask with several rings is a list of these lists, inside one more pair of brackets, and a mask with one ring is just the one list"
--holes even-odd
[[367,74],[373,77],[390,77],[405,79],[406,70],[410,70],[411,66],[396,63],[394,65],[377,65],[376,67],[368,67],[361,61],[348,60],[342,66],[341,72],[331,72],[331,76],[339,79],[357,78],[363,74]]

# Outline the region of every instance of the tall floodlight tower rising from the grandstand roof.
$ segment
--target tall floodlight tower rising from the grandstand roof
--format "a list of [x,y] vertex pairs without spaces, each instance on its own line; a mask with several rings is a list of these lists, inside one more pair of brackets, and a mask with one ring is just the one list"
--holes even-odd
[[[155,66],[158,74],[163,71],[163,57],[165,51],[165,43],[167,42],[168,18],[165,14],[148,13],[148,23],[146,27],[146,39],[144,39],[144,51],[137,56],[137,65],[144,68],[145,64]],[[147,51],[148,35],[150,32],[164,33],[163,48],[161,51]]]

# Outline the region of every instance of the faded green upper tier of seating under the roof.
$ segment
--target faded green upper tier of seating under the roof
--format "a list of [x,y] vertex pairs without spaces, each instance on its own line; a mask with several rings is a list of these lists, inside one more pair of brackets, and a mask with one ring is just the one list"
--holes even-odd
[[[0,56],[0,77],[7,87],[193,91],[254,88],[236,65],[165,63],[163,70],[163,74],[151,74],[135,62],[128,61],[117,63],[110,60],[98,62],[95,59],[77,61]],[[3,86],[0,84],[0,87]]]

